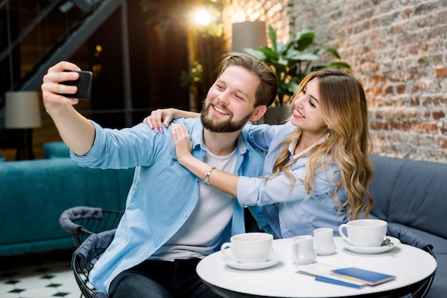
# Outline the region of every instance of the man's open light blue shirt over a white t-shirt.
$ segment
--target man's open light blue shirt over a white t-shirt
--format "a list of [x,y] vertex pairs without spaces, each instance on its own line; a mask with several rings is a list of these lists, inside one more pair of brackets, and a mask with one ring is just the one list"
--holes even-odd
[[[203,160],[206,148],[200,119],[176,119],[175,122],[188,127],[192,154]],[[203,182],[176,161],[170,128],[164,129],[164,134],[156,134],[146,124],[121,130],[102,129],[95,123],[94,126],[94,145],[85,156],[71,152],[74,162],[101,169],[136,168],[126,212],[114,241],[90,274],[94,287],[108,292],[116,275],[143,262],[176,234],[196,207],[199,183]],[[236,155],[234,174],[248,177],[262,174],[264,155],[248,144],[243,133],[238,137]],[[256,219],[262,222],[260,209],[258,212]],[[234,199],[233,218],[221,234],[221,243],[243,232],[243,206]]]

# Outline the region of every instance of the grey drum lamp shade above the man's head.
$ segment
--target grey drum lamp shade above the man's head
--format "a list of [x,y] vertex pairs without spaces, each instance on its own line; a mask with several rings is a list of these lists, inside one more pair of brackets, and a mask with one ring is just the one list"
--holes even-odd
[[267,45],[266,23],[263,21],[243,21],[233,23],[231,51],[243,52],[243,48],[256,49]]

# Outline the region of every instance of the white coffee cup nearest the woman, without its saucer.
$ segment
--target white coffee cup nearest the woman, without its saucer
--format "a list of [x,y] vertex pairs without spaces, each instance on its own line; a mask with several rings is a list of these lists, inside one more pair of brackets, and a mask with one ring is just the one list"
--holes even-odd
[[[341,224],[338,232],[355,247],[379,247],[386,235],[387,224],[381,219],[356,219]],[[345,234],[343,229],[346,229],[348,234]]]

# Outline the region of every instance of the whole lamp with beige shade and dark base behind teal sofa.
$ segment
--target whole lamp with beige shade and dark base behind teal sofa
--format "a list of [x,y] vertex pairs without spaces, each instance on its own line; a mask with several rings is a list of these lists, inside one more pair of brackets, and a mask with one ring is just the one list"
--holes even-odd
[[33,129],[41,126],[38,91],[7,91],[5,101],[5,128],[21,131],[21,146],[17,147],[16,159],[21,151],[27,159],[34,159]]

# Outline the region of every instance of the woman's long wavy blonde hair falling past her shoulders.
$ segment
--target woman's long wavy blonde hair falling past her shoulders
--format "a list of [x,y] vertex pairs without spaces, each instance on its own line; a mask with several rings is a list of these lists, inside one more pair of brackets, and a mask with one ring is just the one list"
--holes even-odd
[[[370,159],[368,106],[363,86],[351,74],[344,71],[337,69],[314,71],[300,82],[293,94],[291,109],[294,108],[294,101],[298,99],[308,81],[313,79],[318,79],[319,103],[330,135],[304,155],[309,158],[303,185],[306,187],[308,197],[311,197],[314,175],[324,171],[326,165],[335,162],[340,167],[341,180],[335,181],[336,191],[333,192],[332,199],[340,211],[342,206],[336,193],[343,186],[347,198],[344,205],[348,207],[348,219],[358,219],[362,211],[368,215],[373,204],[368,185],[374,174],[374,166]],[[290,161],[288,145],[298,141],[300,137],[301,129],[297,128],[278,146],[278,148],[283,146],[283,149],[273,165],[273,175],[270,178],[284,172],[291,179],[291,186],[295,184],[296,177],[293,176],[291,167],[296,160]]]

